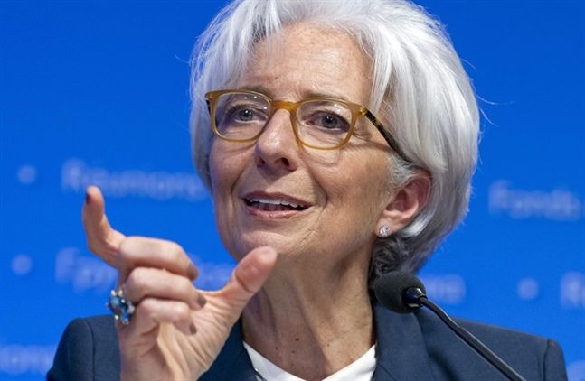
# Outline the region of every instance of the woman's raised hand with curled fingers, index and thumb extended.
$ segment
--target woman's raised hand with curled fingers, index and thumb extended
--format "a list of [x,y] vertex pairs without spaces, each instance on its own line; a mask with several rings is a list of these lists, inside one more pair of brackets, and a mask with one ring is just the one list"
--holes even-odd
[[118,269],[118,287],[137,307],[127,326],[118,324],[122,380],[200,376],[277,259],[273,248],[258,247],[244,256],[222,290],[204,293],[193,286],[197,269],[181,246],[125,237],[111,228],[96,187],[87,190],[83,226],[90,250]]

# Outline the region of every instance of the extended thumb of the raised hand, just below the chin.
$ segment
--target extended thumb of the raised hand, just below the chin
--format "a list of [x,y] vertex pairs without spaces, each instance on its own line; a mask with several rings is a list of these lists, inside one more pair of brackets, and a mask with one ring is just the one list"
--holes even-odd
[[259,292],[277,262],[277,252],[269,246],[253,249],[244,256],[231,274],[231,280],[220,292],[231,306],[231,316],[235,319],[255,293]]

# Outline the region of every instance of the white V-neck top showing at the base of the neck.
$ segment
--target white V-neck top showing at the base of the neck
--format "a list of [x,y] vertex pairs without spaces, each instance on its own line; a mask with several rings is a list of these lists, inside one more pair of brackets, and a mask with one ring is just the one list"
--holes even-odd
[[[248,355],[252,361],[252,367],[256,370],[258,381],[304,381],[302,378],[291,375],[286,370],[272,364],[268,358],[260,355],[245,341],[244,348],[248,351]],[[373,380],[373,370],[375,367],[376,348],[374,345],[361,358],[356,359],[347,367],[339,369],[333,375],[324,378],[323,381],[371,381]]]

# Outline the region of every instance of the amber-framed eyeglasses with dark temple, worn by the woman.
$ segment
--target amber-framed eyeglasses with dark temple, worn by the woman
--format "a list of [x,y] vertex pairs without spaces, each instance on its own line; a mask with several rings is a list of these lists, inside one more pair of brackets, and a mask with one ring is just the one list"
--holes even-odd
[[335,98],[306,98],[299,102],[272,100],[249,90],[219,90],[205,94],[213,133],[229,142],[259,138],[274,113],[288,110],[297,142],[318,150],[335,150],[349,142],[355,121],[365,116],[392,150],[406,159],[398,143],[366,107]]

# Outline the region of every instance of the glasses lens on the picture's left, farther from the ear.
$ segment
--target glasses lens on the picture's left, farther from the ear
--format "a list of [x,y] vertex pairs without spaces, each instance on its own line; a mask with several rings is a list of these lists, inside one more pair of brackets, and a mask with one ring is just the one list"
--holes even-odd
[[222,94],[215,103],[215,126],[225,138],[246,140],[260,133],[269,120],[267,99],[250,93]]

